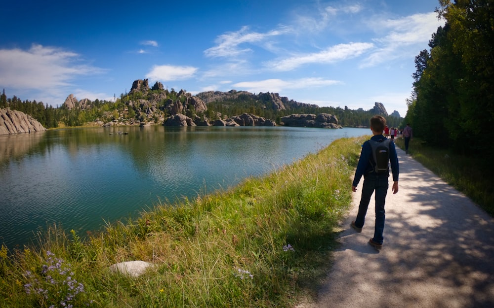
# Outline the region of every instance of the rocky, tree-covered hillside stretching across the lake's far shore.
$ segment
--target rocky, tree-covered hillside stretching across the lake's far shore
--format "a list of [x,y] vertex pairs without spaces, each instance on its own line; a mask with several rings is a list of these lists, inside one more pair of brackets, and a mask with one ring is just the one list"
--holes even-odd
[[[41,102],[21,101],[15,96],[7,99],[3,93],[0,107],[8,107],[29,114],[46,128],[63,126],[112,125],[214,125],[227,120],[234,124],[240,115],[249,114],[252,121],[272,125],[281,124],[281,118],[292,114],[334,115],[340,126],[368,126],[373,114],[381,114],[389,126],[401,125],[403,119],[397,111],[389,115],[382,103],[371,109],[351,110],[347,107],[320,107],[300,103],[278,93],[252,94],[247,91],[208,91],[192,95],[180,90],[165,89],[156,82],[149,86],[147,79],[137,79],[130,92],[112,101],[78,100],[70,94],[60,107]],[[220,121],[220,122],[217,122]]]

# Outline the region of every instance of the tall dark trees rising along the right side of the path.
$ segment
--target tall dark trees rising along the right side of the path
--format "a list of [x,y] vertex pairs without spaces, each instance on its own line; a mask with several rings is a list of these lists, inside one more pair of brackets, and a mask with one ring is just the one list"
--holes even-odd
[[[414,136],[455,153],[494,153],[494,2],[439,0],[439,27],[415,57],[405,117]],[[492,168],[494,164],[487,162]]]

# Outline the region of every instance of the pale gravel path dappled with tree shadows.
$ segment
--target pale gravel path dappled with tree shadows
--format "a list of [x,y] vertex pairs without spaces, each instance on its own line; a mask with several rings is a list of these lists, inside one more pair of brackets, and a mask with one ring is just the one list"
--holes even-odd
[[393,195],[389,186],[382,249],[367,243],[373,198],[362,233],[349,227],[362,179],[317,302],[298,307],[494,308],[494,219],[397,151],[399,192]]

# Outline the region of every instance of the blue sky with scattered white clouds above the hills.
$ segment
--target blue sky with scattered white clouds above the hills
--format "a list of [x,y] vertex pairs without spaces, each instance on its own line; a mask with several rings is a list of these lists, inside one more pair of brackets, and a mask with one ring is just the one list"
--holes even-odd
[[0,89],[61,105],[166,88],[275,92],[407,111],[414,58],[444,21],[435,0],[7,1]]

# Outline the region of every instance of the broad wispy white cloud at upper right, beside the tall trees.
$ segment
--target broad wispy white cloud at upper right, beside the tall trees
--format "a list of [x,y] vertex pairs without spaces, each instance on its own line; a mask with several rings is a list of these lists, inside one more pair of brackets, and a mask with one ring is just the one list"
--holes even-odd
[[431,35],[443,26],[436,13],[414,14],[398,19],[373,19],[369,26],[376,33],[386,33],[374,38],[376,48],[361,64],[373,67],[394,59],[413,58],[427,48]]

